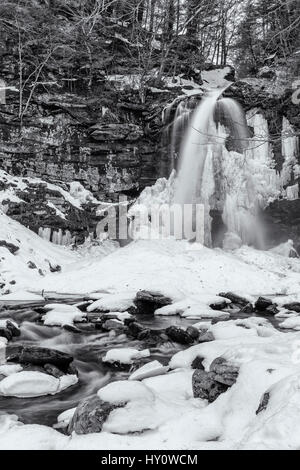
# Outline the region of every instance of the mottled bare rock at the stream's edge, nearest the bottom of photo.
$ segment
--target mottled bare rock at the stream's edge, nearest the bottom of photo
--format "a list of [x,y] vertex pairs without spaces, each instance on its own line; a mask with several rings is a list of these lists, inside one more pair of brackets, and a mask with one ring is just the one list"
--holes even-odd
[[68,425],[68,434],[90,434],[101,432],[110,413],[122,408],[126,403],[112,405],[100,400],[98,396],[87,398],[79,403]]

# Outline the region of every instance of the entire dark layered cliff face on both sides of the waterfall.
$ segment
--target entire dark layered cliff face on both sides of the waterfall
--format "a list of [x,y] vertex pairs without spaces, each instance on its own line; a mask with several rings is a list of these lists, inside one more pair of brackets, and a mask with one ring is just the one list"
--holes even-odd
[[[134,74],[105,77],[88,93],[76,83],[63,80],[40,84],[22,129],[17,119],[18,92],[8,90],[6,104],[0,105],[0,168],[19,177],[41,178],[66,191],[72,181],[77,181],[98,201],[111,202],[117,201],[121,193],[135,197],[159,176],[168,176],[163,110],[199,85],[178,79],[174,83],[169,78],[159,88],[148,85],[141,99],[138,79]],[[268,77],[239,80],[226,91],[245,111],[259,108],[267,119],[277,171],[284,165],[283,118],[295,132],[300,127],[299,105],[291,102],[293,80],[288,74],[283,76],[282,71],[271,70]],[[196,97],[199,99],[200,95]],[[299,163],[299,154],[297,158]],[[299,175],[293,172],[289,178],[287,185],[299,182]],[[7,201],[8,215],[36,232],[40,227],[50,227],[52,231],[70,231],[82,240],[99,220],[93,202],[78,209],[43,183],[27,185],[26,194],[19,192],[18,197],[22,202]],[[64,218],[53,209],[53,201],[66,215]],[[289,201],[284,202],[282,220],[278,207],[283,203],[276,204],[276,221],[272,221],[273,205],[267,209],[268,223],[281,224],[281,232],[287,234],[292,217],[286,217]],[[295,224],[292,232],[300,246],[300,224]]]

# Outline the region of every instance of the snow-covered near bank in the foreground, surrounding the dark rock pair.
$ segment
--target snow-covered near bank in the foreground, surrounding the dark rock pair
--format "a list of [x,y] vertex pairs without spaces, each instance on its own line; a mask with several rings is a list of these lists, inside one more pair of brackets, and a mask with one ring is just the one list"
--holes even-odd
[[[210,330],[216,340],[177,353],[170,372],[102,387],[101,399],[127,404],[111,412],[101,433],[65,436],[50,427],[23,425],[4,414],[0,448],[299,448],[300,333],[280,333],[257,318],[218,323]],[[196,355],[204,357],[206,370],[221,355],[239,367],[236,383],[211,404],[193,398],[190,364]],[[266,409],[256,413],[266,392]],[[68,422],[73,412],[59,421]]]

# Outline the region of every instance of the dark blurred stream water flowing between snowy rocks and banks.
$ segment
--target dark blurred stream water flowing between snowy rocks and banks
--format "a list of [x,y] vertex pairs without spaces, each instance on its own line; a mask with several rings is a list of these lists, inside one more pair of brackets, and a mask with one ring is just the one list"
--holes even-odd
[[[38,305],[42,306],[44,303]],[[131,372],[114,370],[102,363],[101,358],[109,349],[117,347],[142,349],[144,345],[140,341],[130,340],[125,334],[116,335],[112,332],[103,333],[100,330],[95,330],[94,325],[90,323],[77,324],[81,333],[66,331],[60,327],[43,326],[36,322],[37,315],[32,308],[33,306],[31,304],[22,307],[11,305],[8,309],[4,308],[0,311],[0,319],[11,318],[19,324],[21,329],[21,336],[9,342],[8,350],[13,350],[18,345],[27,344],[66,352],[74,357],[79,381],[76,385],[53,396],[25,399],[0,397],[0,413],[14,413],[25,424],[52,426],[56,423],[57,416],[63,411],[76,407],[80,400],[95,394],[107,383],[126,379],[130,375]],[[233,314],[231,316],[232,319],[247,317],[249,317],[247,314]],[[278,322],[274,317],[268,316],[268,319],[278,328]],[[149,317],[149,315],[139,315],[138,321],[152,329],[166,328],[171,324],[187,327],[196,322],[196,320],[174,316]],[[173,354],[186,347],[166,342],[161,346],[150,348],[151,360],[157,359],[166,365]]]

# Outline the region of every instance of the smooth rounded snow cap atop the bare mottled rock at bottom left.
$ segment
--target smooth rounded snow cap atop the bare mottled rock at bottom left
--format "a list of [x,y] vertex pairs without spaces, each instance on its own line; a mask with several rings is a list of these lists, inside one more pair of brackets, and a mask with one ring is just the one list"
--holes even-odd
[[153,392],[141,382],[120,380],[112,382],[98,390],[98,397],[109,403],[127,403],[129,401],[143,399],[154,400]]

